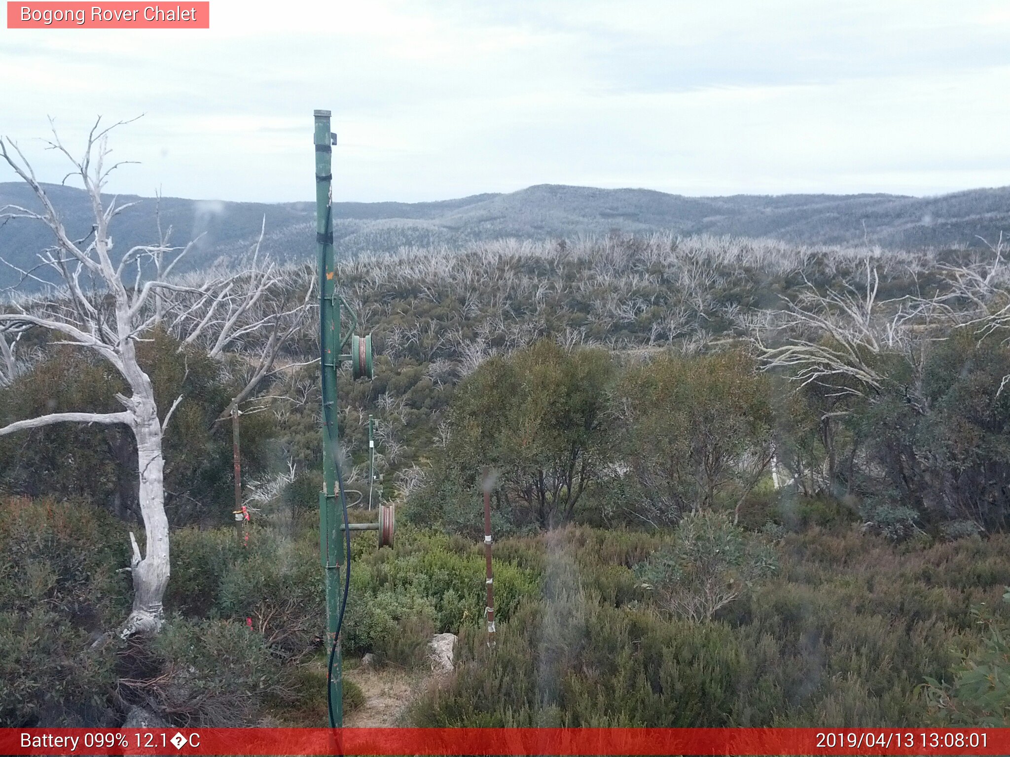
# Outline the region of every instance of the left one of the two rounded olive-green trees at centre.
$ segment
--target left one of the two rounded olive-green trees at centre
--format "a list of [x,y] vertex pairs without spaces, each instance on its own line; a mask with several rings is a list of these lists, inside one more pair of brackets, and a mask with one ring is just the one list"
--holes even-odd
[[607,389],[614,372],[601,349],[565,350],[543,339],[483,362],[457,388],[448,441],[435,475],[411,503],[417,523],[452,523],[483,534],[482,467],[497,471],[495,513],[513,530],[570,522],[611,449]]

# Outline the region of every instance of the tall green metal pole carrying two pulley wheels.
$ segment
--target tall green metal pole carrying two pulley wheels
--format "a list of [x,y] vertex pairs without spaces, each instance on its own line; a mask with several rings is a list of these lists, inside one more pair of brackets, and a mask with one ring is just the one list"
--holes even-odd
[[340,612],[340,567],[343,563],[341,518],[336,491],[336,372],[340,359],[340,303],[336,296],[336,266],[333,260],[332,217],[332,140],[328,110],[317,110],[315,116],[316,175],[316,251],[319,259],[319,336],[322,375],[322,473],[323,490],[319,495],[319,552],[326,574],[326,639],[327,648],[336,643],[330,691],[333,718],[343,725],[343,686],[340,642],[336,638],[336,621]]

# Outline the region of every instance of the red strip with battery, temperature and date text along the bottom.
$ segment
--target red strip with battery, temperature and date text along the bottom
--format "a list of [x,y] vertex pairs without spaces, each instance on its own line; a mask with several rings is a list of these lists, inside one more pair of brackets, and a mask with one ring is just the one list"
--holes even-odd
[[0,729],[4,755],[1006,755],[1010,729]]

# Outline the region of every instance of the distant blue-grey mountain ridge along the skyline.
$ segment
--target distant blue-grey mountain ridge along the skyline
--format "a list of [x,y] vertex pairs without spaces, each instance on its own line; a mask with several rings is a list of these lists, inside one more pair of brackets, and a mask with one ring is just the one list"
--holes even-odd
[[[91,227],[90,205],[81,190],[45,185],[75,237]],[[157,234],[153,198],[140,201],[113,222],[120,252],[148,243]],[[22,184],[0,183],[0,206],[37,207]],[[174,227],[180,244],[203,234],[189,267],[239,255],[259,234],[266,216],[264,252],[279,260],[301,260],[314,253],[313,203],[234,203],[162,198],[163,227]],[[501,237],[550,239],[586,234],[733,234],[774,237],[808,244],[884,247],[981,244],[1010,231],[1010,187],[978,189],[938,197],[903,195],[733,195],[684,197],[643,189],[596,189],[537,185],[508,194],[482,194],[423,203],[336,203],[334,241],[338,252],[393,252],[404,246],[460,245]],[[0,257],[21,268],[52,244],[38,223],[14,219],[0,227]],[[16,282],[12,268],[0,266],[0,287]]]

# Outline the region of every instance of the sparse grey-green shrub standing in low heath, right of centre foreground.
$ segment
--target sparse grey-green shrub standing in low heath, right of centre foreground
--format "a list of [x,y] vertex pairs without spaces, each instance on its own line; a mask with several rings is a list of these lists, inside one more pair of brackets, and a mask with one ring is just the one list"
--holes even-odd
[[685,517],[674,542],[655,551],[635,572],[675,616],[711,620],[776,567],[774,550],[761,537],[734,526],[721,513]]

